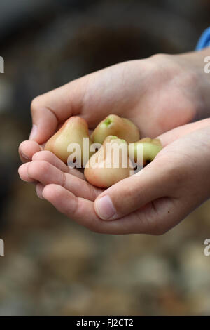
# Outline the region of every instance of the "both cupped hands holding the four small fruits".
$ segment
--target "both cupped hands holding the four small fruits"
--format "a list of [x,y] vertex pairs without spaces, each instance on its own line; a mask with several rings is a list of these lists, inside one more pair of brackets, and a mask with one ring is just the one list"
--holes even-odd
[[[36,98],[31,105],[31,140],[20,145],[20,157],[27,162],[20,167],[21,178],[38,182],[41,197],[97,232],[155,234],[179,223],[209,197],[209,183],[202,185],[202,178],[209,177],[209,152],[204,147],[209,141],[209,123],[201,121],[164,132],[208,116],[209,77],[203,73],[203,56],[204,52],[155,55],[125,62]],[[69,170],[54,154],[41,151],[41,144],[69,117],[83,117],[94,128],[110,112],[134,121],[143,137],[162,134],[163,145],[172,144],[160,151],[140,176],[125,178],[103,191],[87,183],[82,173]],[[200,128],[205,124],[206,131],[195,131],[196,124]],[[186,132],[190,138],[185,137]],[[202,190],[193,195],[199,187]],[[101,206],[100,194],[106,194]],[[109,218],[117,220],[101,220],[103,208],[106,216],[109,211]]]

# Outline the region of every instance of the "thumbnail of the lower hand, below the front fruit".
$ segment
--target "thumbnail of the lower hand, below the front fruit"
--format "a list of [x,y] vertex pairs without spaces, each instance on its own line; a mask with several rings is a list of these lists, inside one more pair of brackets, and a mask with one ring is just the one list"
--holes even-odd
[[116,209],[109,196],[99,198],[95,204],[97,215],[103,220],[109,220],[116,214]]

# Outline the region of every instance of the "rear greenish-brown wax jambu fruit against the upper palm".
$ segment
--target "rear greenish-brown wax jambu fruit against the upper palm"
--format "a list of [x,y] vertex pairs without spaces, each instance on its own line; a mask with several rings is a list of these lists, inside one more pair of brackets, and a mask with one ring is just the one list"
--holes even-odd
[[139,128],[129,119],[110,114],[99,123],[90,138],[94,143],[102,144],[107,136],[118,136],[127,143],[134,143],[139,140],[140,133]]

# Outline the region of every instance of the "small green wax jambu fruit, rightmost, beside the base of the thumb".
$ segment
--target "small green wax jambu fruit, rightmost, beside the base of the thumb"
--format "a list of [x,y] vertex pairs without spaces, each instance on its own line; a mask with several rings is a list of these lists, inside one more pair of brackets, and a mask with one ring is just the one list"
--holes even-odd
[[136,163],[139,162],[138,159],[138,153],[141,154],[141,150],[143,152],[143,165],[146,165],[147,161],[153,161],[155,157],[157,156],[158,152],[162,150],[162,144],[160,142],[160,139],[155,138],[143,138],[136,143],[133,143],[130,145],[129,148],[129,157],[132,159],[132,161],[135,161]]

